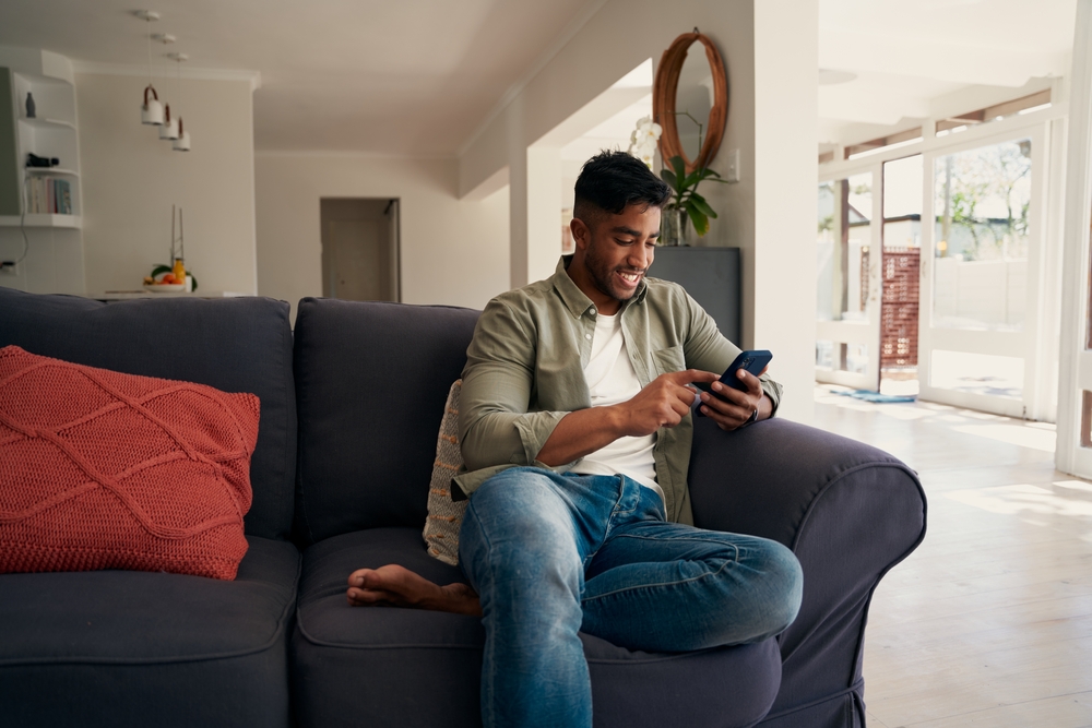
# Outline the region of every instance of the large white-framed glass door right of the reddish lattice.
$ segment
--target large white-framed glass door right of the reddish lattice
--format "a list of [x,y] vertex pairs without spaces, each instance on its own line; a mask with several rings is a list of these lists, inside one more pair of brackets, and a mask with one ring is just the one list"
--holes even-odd
[[[1043,127],[926,153],[921,397],[1009,417],[1036,409]],[[931,224],[924,224],[931,220]]]

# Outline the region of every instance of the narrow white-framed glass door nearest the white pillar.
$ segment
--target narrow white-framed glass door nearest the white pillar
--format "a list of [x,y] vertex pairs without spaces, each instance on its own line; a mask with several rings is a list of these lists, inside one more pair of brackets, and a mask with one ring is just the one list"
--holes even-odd
[[819,182],[816,380],[879,391],[879,166]]

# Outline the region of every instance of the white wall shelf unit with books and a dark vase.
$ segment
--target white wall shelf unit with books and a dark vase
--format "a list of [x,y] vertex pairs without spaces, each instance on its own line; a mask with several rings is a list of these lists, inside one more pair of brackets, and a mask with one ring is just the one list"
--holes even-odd
[[[32,94],[35,116],[26,116]],[[57,157],[52,168],[26,166],[27,154]],[[33,192],[67,191],[71,213],[61,214]],[[40,196],[40,195],[39,195]],[[48,198],[48,195],[47,195]],[[64,194],[61,195],[64,200]],[[80,138],[72,63],[50,51],[0,46],[0,286],[33,293],[83,293]]]

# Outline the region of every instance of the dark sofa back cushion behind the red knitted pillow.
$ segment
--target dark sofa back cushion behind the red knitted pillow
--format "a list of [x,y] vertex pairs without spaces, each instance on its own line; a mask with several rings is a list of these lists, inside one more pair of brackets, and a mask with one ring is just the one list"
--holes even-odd
[[0,288],[0,347],[12,344],[90,367],[258,395],[246,533],[287,538],[296,469],[287,303],[257,297],[102,303]]

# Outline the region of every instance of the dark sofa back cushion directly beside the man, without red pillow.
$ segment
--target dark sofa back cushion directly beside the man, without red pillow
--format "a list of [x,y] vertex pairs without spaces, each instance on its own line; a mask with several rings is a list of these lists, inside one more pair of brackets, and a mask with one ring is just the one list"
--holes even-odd
[[424,528],[448,389],[478,312],[305,298],[295,329],[301,546]]

